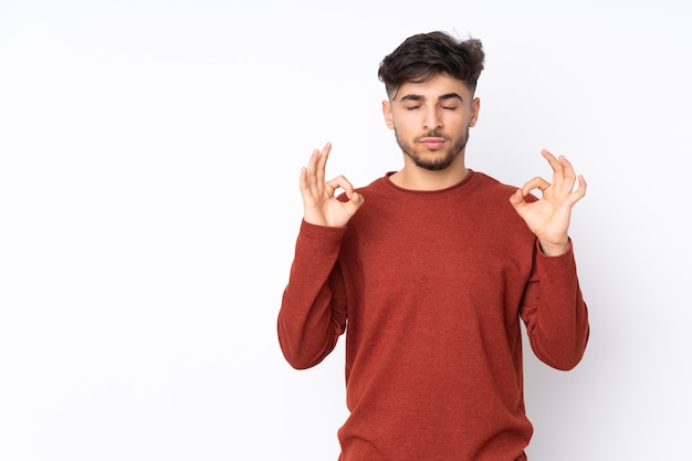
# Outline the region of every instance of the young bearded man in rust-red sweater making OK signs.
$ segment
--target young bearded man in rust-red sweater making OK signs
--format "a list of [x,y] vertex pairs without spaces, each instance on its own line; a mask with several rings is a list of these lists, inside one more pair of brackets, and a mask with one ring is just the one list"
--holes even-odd
[[360,189],[325,180],[327,144],[301,171],[277,333],[303,369],[346,332],[342,461],[525,460],[520,319],[552,367],[572,369],[586,348],[568,237],[586,182],[546,150],[552,182],[514,188],[466,168],[483,61],[474,39],[407,39],[379,69],[403,167]]

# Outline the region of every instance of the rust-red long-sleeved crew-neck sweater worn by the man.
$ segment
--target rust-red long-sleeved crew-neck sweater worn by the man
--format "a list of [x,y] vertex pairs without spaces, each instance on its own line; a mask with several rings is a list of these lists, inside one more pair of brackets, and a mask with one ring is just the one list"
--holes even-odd
[[[342,461],[525,459],[522,335],[552,367],[575,367],[589,326],[572,247],[541,253],[481,172],[437,191],[379,178],[346,228],[303,221],[279,312],[295,368],[346,332]],[[347,326],[348,325],[348,326]]]

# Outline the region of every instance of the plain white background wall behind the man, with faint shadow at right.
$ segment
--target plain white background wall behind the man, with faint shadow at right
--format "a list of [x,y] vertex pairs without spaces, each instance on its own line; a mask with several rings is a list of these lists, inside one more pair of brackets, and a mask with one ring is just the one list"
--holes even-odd
[[591,339],[527,352],[530,459],[692,459],[683,6],[0,1],[0,459],[336,460],[343,345],[296,371],[275,335],[298,171],[400,167],[377,66],[431,30],[485,46],[469,167],[588,181]]

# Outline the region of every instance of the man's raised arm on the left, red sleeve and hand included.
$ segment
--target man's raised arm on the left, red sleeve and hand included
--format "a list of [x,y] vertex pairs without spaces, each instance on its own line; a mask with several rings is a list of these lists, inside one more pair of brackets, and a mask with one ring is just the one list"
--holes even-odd
[[[304,216],[289,284],[279,313],[279,342],[295,368],[322,362],[346,328],[344,282],[337,264],[345,226],[364,202],[352,184],[338,176],[325,181],[332,145],[314,150],[301,169]],[[347,198],[335,197],[344,189]]]

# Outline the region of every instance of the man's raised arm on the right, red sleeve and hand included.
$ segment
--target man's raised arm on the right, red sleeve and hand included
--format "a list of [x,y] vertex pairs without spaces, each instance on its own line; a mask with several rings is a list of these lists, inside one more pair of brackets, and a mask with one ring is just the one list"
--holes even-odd
[[[589,336],[587,307],[568,235],[572,208],[585,196],[586,181],[575,175],[565,157],[556,158],[547,150],[542,155],[553,169],[553,182],[536,177],[510,198],[537,238],[522,318],[534,354],[554,368],[570,369],[581,359]],[[527,201],[533,189],[539,189],[543,197]]]

